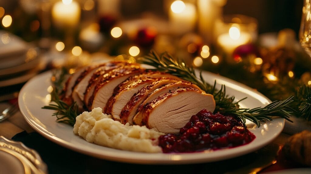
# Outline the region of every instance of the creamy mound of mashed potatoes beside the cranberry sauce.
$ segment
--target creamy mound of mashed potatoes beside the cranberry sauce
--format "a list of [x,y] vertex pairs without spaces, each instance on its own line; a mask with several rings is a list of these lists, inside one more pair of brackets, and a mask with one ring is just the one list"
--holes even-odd
[[158,137],[164,135],[146,126],[123,125],[101,108],[77,116],[73,132],[91,143],[137,152],[161,152]]

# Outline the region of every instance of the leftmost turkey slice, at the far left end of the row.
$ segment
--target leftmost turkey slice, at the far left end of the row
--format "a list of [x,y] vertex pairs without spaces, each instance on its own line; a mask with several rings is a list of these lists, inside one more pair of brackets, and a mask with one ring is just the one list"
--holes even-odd
[[71,74],[70,77],[67,79],[62,94],[60,95],[60,99],[63,100],[67,105],[72,104],[72,90],[76,85],[77,79],[87,68],[88,66],[77,69],[76,72]]

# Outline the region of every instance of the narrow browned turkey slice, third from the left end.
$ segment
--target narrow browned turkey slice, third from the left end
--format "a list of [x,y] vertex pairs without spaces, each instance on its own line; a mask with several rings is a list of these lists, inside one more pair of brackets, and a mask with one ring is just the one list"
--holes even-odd
[[85,106],[89,105],[89,99],[93,95],[94,89],[95,89],[97,83],[99,83],[100,80],[104,77],[104,74],[108,74],[113,69],[120,68],[123,66],[130,66],[130,65],[138,66],[138,64],[130,64],[130,63],[123,62],[123,61],[122,62],[121,61],[114,61],[114,62],[110,62],[110,63],[106,64],[104,67],[100,67],[99,69],[97,69],[94,72],[94,74],[91,76],[91,78],[87,84],[87,87],[84,91],[83,102],[84,102]]

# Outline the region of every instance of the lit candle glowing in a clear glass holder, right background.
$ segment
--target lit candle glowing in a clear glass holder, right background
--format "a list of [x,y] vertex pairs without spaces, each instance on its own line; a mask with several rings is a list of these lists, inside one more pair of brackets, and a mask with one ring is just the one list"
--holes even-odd
[[236,47],[251,41],[251,35],[240,31],[237,26],[233,25],[228,33],[221,34],[217,39],[218,44],[228,54],[232,54]]

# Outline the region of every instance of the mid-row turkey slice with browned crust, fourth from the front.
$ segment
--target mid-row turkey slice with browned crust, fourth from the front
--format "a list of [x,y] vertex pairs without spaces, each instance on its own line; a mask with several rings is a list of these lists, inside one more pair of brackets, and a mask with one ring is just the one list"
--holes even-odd
[[[106,105],[106,113],[110,113],[115,120],[120,120],[120,113],[123,107],[128,103],[131,97],[137,93],[143,87],[149,85],[151,82],[159,80],[158,78],[144,77],[132,82],[122,91],[119,91],[115,96],[109,99],[109,103]],[[108,112],[107,112],[108,111]]]

